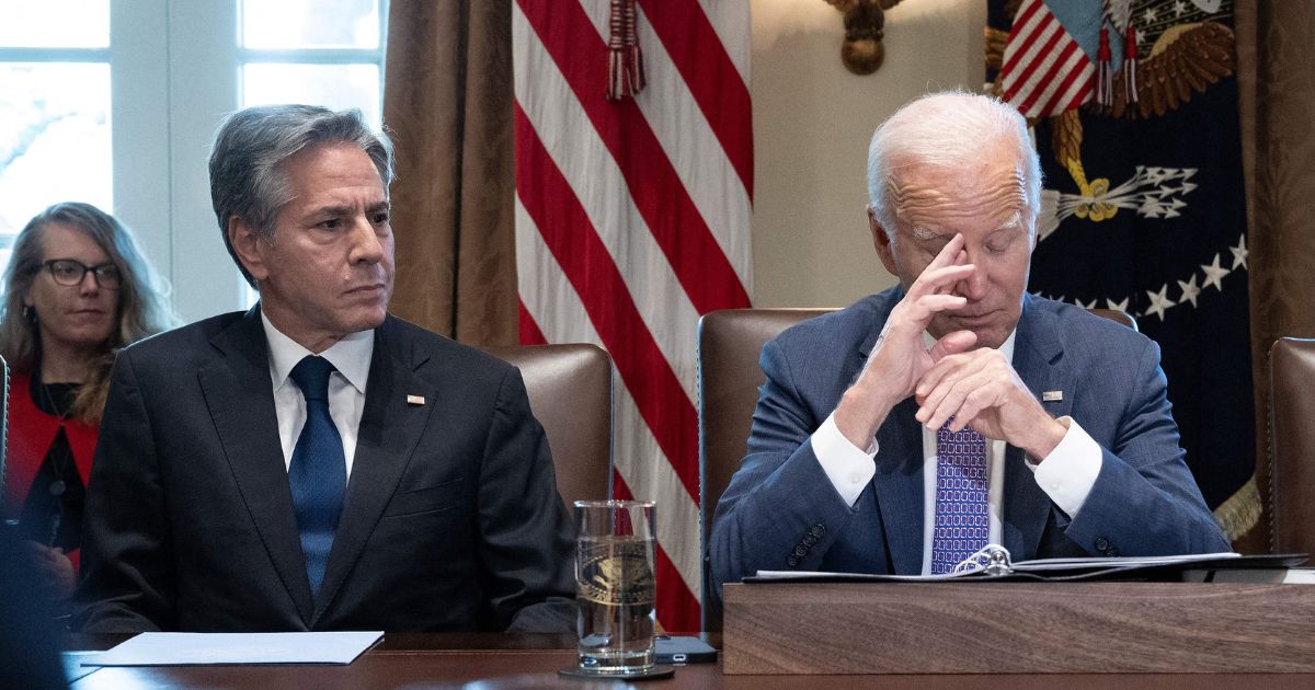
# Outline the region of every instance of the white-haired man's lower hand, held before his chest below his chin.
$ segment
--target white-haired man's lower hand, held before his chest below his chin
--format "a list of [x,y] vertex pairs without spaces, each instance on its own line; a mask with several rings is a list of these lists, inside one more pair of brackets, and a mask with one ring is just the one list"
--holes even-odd
[[1053,419],[1018,372],[998,350],[947,355],[936,361],[914,390],[918,414],[927,428],[940,428],[949,418],[951,431],[965,426],[978,434],[1005,440],[1038,461],[1059,446],[1068,431]]

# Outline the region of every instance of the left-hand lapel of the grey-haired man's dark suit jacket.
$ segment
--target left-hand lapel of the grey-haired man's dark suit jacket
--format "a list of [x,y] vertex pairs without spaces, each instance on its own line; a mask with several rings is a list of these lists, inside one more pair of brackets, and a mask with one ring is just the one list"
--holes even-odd
[[279,440],[259,306],[210,344],[224,354],[197,371],[210,419],[270,560],[301,619],[309,620],[310,584]]

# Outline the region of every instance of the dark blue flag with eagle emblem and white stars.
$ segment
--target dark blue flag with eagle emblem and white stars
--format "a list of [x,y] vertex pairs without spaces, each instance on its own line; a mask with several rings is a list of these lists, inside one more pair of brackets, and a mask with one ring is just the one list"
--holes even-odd
[[1028,289],[1137,319],[1230,538],[1260,520],[1232,0],[990,0],[1045,175]]

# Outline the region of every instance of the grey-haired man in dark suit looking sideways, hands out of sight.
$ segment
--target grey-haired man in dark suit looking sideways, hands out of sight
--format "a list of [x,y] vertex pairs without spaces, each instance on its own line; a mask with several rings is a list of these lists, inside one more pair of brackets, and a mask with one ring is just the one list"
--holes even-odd
[[571,630],[572,527],[510,365],[387,314],[392,146],[251,108],[210,191],[260,302],[124,350],[87,631]]

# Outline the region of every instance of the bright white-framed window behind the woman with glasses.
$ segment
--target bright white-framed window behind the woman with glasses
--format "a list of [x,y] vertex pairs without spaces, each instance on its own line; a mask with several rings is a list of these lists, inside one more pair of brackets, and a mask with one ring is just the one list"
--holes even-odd
[[184,321],[249,304],[206,163],[247,105],[381,121],[388,0],[0,0],[0,260],[57,201],[114,213]]

